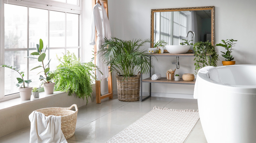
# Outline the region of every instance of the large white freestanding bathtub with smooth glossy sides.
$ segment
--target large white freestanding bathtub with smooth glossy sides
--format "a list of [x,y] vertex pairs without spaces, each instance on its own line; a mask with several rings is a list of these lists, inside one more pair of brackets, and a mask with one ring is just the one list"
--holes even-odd
[[197,75],[198,109],[208,143],[256,143],[256,65],[216,67],[222,83]]

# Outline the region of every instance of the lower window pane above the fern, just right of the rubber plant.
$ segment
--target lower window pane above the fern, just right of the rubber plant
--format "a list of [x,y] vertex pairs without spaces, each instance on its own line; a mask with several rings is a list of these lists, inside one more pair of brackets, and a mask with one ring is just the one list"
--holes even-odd
[[50,71],[56,69],[56,66],[59,65],[59,61],[57,60],[58,57],[63,57],[63,53],[65,54],[65,49],[51,49],[50,50]]

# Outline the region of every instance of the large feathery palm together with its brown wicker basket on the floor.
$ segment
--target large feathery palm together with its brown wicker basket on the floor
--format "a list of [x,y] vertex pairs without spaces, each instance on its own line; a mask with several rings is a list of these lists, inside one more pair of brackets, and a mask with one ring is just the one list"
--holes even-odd
[[[151,65],[147,50],[139,49],[147,42],[150,40],[120,40],[115,37],[108,40],[105,38],[99,52],[102,53],[101,57],[106,65],[110,65],[110,71],[117,72],[119,101],[139,100],[140,72],[142,74],[149,72]],[[135,75],[138,71],[138,75]]]

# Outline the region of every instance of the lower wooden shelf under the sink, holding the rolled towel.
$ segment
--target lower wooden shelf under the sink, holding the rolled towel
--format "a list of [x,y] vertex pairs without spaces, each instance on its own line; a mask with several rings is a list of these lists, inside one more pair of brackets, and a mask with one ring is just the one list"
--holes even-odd
[[182,78],[180,81],[175,81],[175,80],[169,80],[166,79],[166,77],[161,77],[158,80],[152,80],[151,77],[143,79],[142,82],[148,82],[148,83],[169,83],[169,84],[189,84],[189,85],[194,85],[196,82],[196,79],[193,81],[184,81]]

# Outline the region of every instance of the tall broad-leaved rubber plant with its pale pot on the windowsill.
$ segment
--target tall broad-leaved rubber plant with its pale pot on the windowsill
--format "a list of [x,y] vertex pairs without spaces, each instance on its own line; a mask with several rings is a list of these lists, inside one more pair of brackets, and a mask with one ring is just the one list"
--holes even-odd
[[[40,62],[41,64],[37,67],[32,68],[30,71],[42,67],[43,71],[41,71],[41,72],[44,73],[44,76],[40,75],[40,77],[39,77],[39,80],[42,81],[40,84],[40,87],[43,84],[45,94],[53,94],[53,89],[54,89],[55,83],[52,82],[51,80],[54,77],[54,73],[51,73],[49,75],[50,68],[49,67],[47,68],[47,66],[49,65],[51,59],[48,60],[48,62],[46,64],[44,63],[44,59],[46,56],[45,52],[46,52],[47,46],[45,48],[43,48],[43,47],[44,47],[43,40],[40,39],[39,45],[36,44],[37,52],[33,52],[30,54],[30,55],[36,55],[38,57],[29,56],[29,58],[36,58],[38,60],[38,62]],[[39,73],[41,73],[41,72],[39,72]]]

